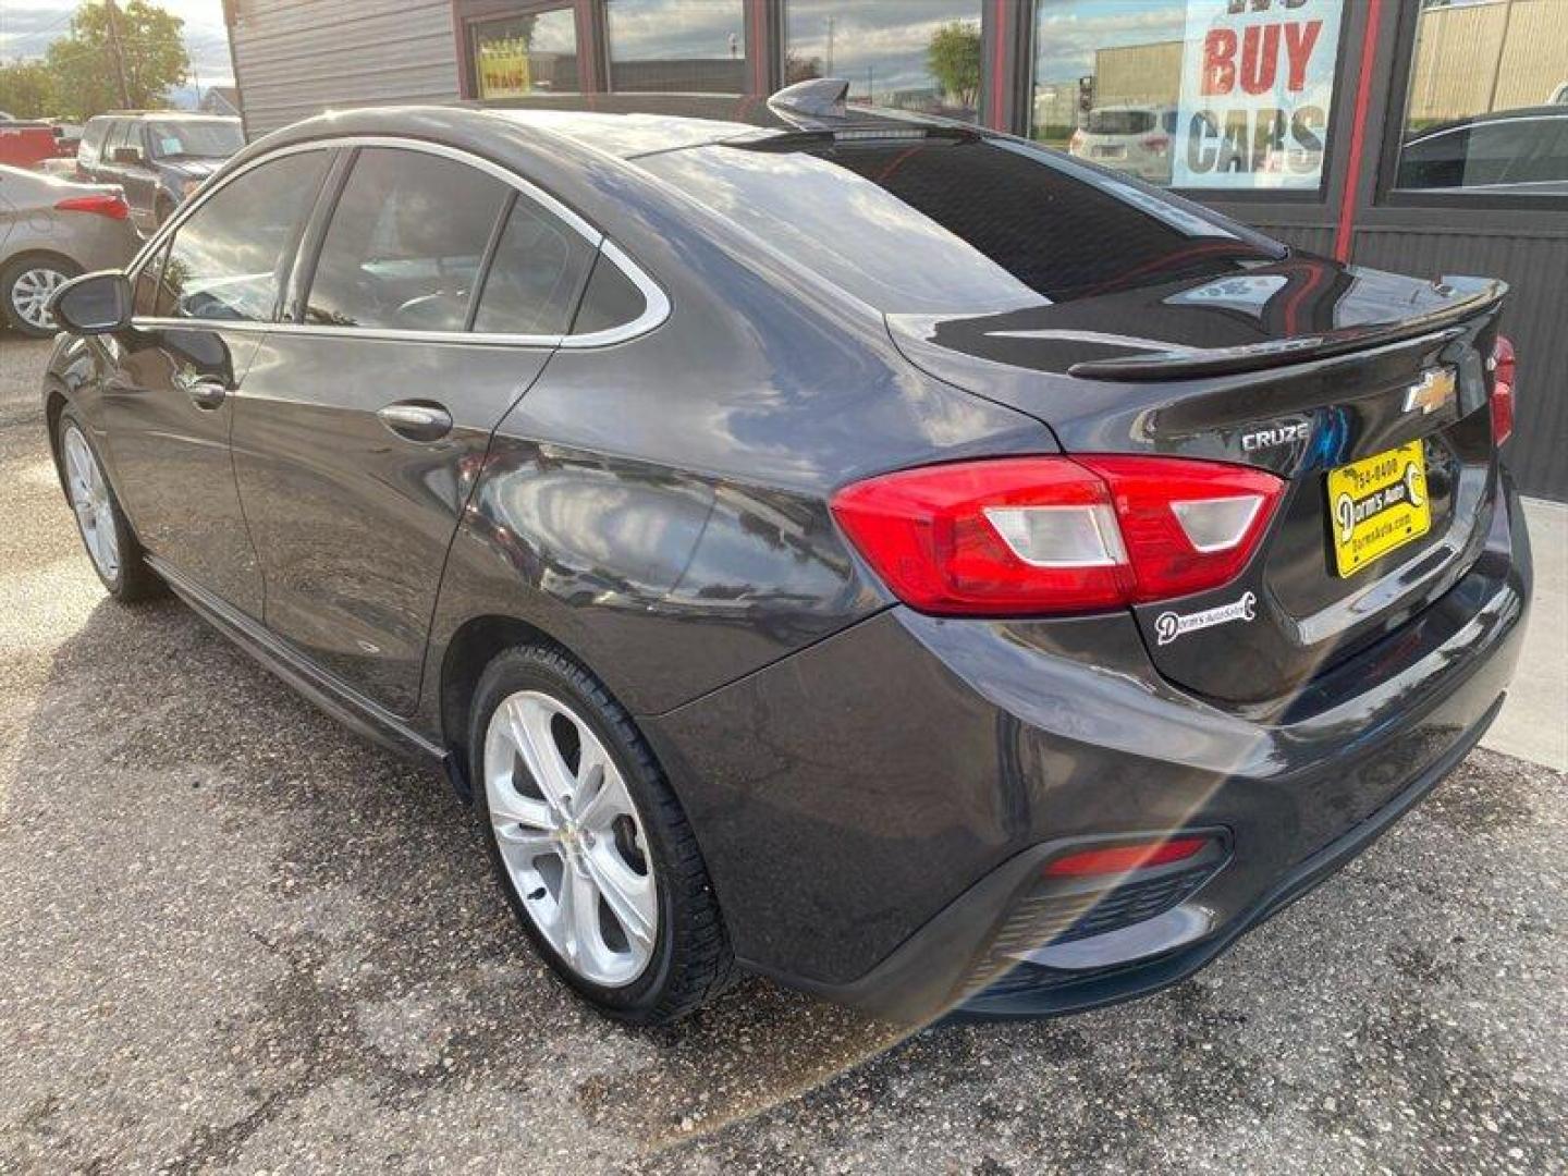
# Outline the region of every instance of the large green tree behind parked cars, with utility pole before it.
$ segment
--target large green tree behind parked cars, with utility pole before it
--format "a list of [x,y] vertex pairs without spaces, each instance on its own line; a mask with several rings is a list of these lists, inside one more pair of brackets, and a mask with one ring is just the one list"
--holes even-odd
[[55,113],[86,119],[124,105],[162,107],[165,94],[185,82],[190,56],[180,30],[185,22],[147,0],[118,9],[118,49],[125,75],[119,89],[116,38],[103,0],[85,0],[71,17],[71,31],[50,42],[45,53],[55,80]]

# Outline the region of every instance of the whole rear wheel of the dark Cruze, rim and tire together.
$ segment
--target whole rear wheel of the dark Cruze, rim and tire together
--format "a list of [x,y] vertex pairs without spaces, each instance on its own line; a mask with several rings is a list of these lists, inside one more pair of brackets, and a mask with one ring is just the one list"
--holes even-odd
[[552,646],[497,657],[469,732],[475,806],[506,900],[601,1011],[674,1021],[734,956],[696,837],[630,715]]

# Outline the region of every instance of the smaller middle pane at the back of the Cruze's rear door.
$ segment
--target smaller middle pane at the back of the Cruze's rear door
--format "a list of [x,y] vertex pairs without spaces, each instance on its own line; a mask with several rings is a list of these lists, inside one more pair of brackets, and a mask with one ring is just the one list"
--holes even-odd
[[485,276],[474,329],[564,334],[593,259],[580,232],[519,194]]

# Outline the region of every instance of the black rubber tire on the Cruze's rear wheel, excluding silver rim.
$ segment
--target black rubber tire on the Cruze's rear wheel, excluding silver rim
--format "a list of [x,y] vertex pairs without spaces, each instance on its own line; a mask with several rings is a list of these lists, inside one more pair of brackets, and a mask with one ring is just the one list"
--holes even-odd
[[[621,988],[586,980],[555,952],[535,927],[502,861],[485,793],[485,735],[500,702],[521,690],[550,695],[588,723],[615,759],[641,818],[659,892],[659,931],[648,966]],[[469,764],[474,809],[502,892],[539,955],[579,996],[618,1021],[660,1025],[695,1011],[729,988],[735,978],[735,958],[696,836],[632,717],[599,679],[557,646],[521,646],[497,655],[475,690],[469,718]]]

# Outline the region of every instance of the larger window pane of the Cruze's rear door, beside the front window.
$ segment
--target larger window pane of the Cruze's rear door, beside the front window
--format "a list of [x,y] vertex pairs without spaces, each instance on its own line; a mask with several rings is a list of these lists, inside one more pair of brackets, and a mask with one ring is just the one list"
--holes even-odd
[[456,160],[362,149],[321,241],[306,321],[463,331],[510,193]]

